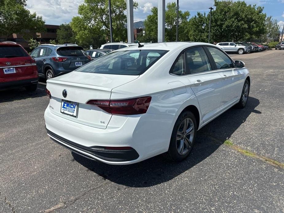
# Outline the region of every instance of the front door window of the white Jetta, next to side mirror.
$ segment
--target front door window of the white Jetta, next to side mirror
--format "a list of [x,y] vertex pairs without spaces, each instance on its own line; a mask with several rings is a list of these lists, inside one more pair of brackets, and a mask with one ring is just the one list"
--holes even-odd
[[221,50],[214,47],[207,47],[215,61],[217,69],[234,68],[231,59]]

